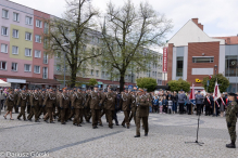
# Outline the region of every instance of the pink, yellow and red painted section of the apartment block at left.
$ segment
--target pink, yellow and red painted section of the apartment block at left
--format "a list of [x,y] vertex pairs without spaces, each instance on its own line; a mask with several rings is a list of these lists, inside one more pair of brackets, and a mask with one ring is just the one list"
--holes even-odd
[[0,13],[0,78],[20,88],[58,85],[54,61],[43,52],[50,15],[8,0],[1,0]]

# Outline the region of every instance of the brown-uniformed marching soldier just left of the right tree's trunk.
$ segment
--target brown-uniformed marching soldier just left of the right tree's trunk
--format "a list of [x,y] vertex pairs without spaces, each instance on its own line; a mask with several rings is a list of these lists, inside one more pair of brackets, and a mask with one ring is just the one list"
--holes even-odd
[[104,108],[105,108],[105,117],[109,121],[109,128],[113,129],[113,115],[115,111],[115,94],[112,92],[111,88],[108,89],[108,93],[105,94],[105,103],[104,103]]

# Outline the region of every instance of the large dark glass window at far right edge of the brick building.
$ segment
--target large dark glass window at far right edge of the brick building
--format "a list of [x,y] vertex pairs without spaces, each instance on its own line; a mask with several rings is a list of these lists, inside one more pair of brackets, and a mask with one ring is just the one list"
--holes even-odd
[[[227,55],[225,58],[225,76],[237,77],[238,76],[238,56]],[[216,70],[218,73],[218,70]]]

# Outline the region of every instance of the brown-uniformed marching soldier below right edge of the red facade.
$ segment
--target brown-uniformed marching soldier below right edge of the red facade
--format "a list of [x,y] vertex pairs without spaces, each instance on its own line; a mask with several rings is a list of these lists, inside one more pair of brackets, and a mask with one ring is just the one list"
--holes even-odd
[[43,101],[43,107],[47,107],[47,113],[49,117],[45,118],[45,121],[48,122],[48,119],[50,118],[50,123],[53,122],[53,105],[57,102],[57,94],[53,92],[52,88],[50,88],[49,93],[46,95]]

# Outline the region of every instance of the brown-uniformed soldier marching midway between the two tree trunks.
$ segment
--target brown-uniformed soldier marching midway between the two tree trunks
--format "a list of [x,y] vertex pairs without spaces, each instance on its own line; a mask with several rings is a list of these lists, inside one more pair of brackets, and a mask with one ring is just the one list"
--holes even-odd
[[98,85],[95,85],[95,91],[91,91],[88,95],[87,103],[91,109],[92,116],[92,129],[97,129],[97,124],[100,119],[101,115],[101,106],[102,106],[102,96],[101,93],[98,91]]

